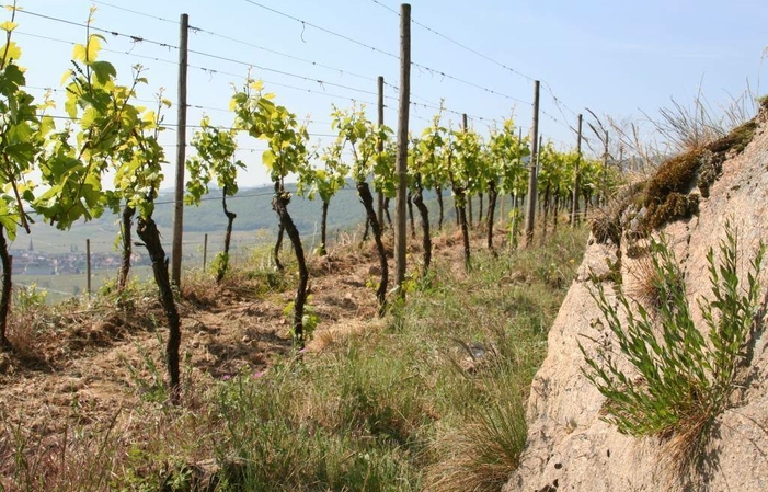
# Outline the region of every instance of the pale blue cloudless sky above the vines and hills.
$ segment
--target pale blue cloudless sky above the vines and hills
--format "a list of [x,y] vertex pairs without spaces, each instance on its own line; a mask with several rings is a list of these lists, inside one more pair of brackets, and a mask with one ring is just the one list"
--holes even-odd
[[[45,88],[61,90],[73,43],[84,42],[93,5],[93,26],[107,32],[102,59],[115,65],[118,79],[129,83],[131,67],[140,64],[149,83],[138,98],[151,104],[164,88],[164,96],[175,102],[179,20],[187,13],[190,125],[204,114],[214,124],[231,125],[229,99],[250,69],[279,104],[311,121],[319,146],[331,138],[332,104],[367,104],[376,121],[378,76],[387,82],[386,123],[396,126],[400,4],[391,0],[19,0],[18,5],[24,12],[16,15],[14,39],[35,95]],[[586,117],[587,108],[643,123],[673,100],[691,104],[699,91],[713,112],[747,88],[756,95],[768,92],[765,0],[414,0],[411,5],[414,134],[440,100],[454,127],[467,113],[470,125],[488,134],[494,121],[512,115],[527,133],[535,79],[541,81],[540,134],[561,149],[575,147],[576,114]],[[10,19],[10,12],[2,15]],[[55,112],[62,114],[62,105]],[[175,121],[174,106],[165,123]],[[187,141],[194,130],[188,129]],[[162,136],[171,162],[175,139],[173,130]],[[241,183],[266,183],[263,144],[248,137],[240,144],[238,158],[249,165]],[[170,163],[167,176],[170,186]]]

